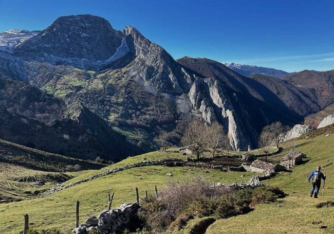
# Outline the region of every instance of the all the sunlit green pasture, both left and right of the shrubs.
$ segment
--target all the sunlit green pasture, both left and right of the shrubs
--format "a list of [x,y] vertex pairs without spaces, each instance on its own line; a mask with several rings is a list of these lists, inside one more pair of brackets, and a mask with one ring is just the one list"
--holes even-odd
[[[294,141],[286,142],[285,151],[280,155],[268,157],[277,160],[288,151],[288,147],[296,145],[297,150],[306,153],[309,161],[293,168],[292,172],[282,172],[279,175],[264,181],[267,185],[279,186],[289,195],[284,199],[271,204],[260,204],[248,214],[238,215],[229,219],[214,222],[207,229],[207,233],[332,233],[334,231],[334,207],[316,208],[315,205],[323,201],[334,200],[333,165],[326,171],[327,181],[323,198],[309,197],[310,184],[306,176],[317,165],[324,166],[332,161],[334,153],[334,125],[313,131]],[[330,134],[329,136],[326,136]],[[72,173],[77,176],[66,183],[78,181],[92,174],[110,168],[134,164],[142,160],[159,160],[163,158],[181,158],[180,153],[151,152],[127,158],[119,163],[95,171]],[[307,162],[306,162],[307,161]],[[139,188],[140,197],[145,191],[154,193],[154,186],[163,189],[173,179],[188,179],[200,176],[209,179],[212,183],[222,182],[231,184],[235,179],[249,178],[254,175],[250,172],[221,172],[218,170],[191,168],[191,167],[164,167],[147,166],[124,170],[105,175],[76,186],[69,187],[51,195],[38,199],[21,202],[0,204],[1,233],[17,233],[22,229],[23,215],[29,214],[31,227],[36,228],[72,228],[75,223],[75,204],[80,201],[80,222],[91,215],[97,215],[107,207],[108,193],[115,192],[113,207],[126,202],[135,202],[135,188]],[[166,176],[172,172],[173,176]],[[189,225],[196,225],[192,220]],[[185,227],[186,230],[190,226]],[[327,226],[327,228],[320,228]],[[9,227],[9,228],[6,228]],[[187,229],[188,228],[188,229]],[[180,231],[182,233],[182,231]]]

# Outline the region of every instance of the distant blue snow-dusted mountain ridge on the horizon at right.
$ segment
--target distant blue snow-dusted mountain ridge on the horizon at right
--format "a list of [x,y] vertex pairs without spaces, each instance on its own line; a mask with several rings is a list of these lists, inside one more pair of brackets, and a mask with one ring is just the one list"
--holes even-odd
[[245,65],[245,64],[237,64],[237,63],[223,63],[228,68],[234,70],[236,73],[243,76],[251,76],[253,74],[262,74],[271,77],[284,78],[289,75],[284,70],[278,70],[269,67],[258,67],[255,65]]

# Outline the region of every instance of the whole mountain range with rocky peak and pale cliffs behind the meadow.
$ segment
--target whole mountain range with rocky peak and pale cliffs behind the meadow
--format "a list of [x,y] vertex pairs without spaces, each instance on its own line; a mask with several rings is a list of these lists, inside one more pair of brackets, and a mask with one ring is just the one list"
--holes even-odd
[[117,161],[155,149],[162,131],[178,144],[191,118],[219,121],[235,150],[255,148],[265,125],[302,123],[334,103],[333,70],[282,78],[174,60],[135,27],[99,16],[16,31],[22,39],[0,34],[0,138],[53,153]]

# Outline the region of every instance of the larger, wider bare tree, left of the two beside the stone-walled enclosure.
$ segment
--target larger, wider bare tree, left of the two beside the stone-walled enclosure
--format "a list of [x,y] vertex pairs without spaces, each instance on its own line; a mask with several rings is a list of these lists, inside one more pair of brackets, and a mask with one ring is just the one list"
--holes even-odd
[[181,138],[181,144],[195,152],[197,159],[199,159],[199,154],[207,146],[207,132],[205,123],[195,119],[188,124]]

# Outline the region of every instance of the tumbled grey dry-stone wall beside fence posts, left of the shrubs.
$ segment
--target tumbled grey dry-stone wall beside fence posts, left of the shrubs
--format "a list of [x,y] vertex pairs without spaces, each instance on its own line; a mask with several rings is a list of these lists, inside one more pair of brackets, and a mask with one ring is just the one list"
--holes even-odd
[[140,226],[137,211],[140,205],[122,204],[119,208],[103,211],[98,218],[86,220],[78,228],[72,230],[73,234],[85,234],[92,230],[102,233],[122,233],[124,229],[136,230]]

